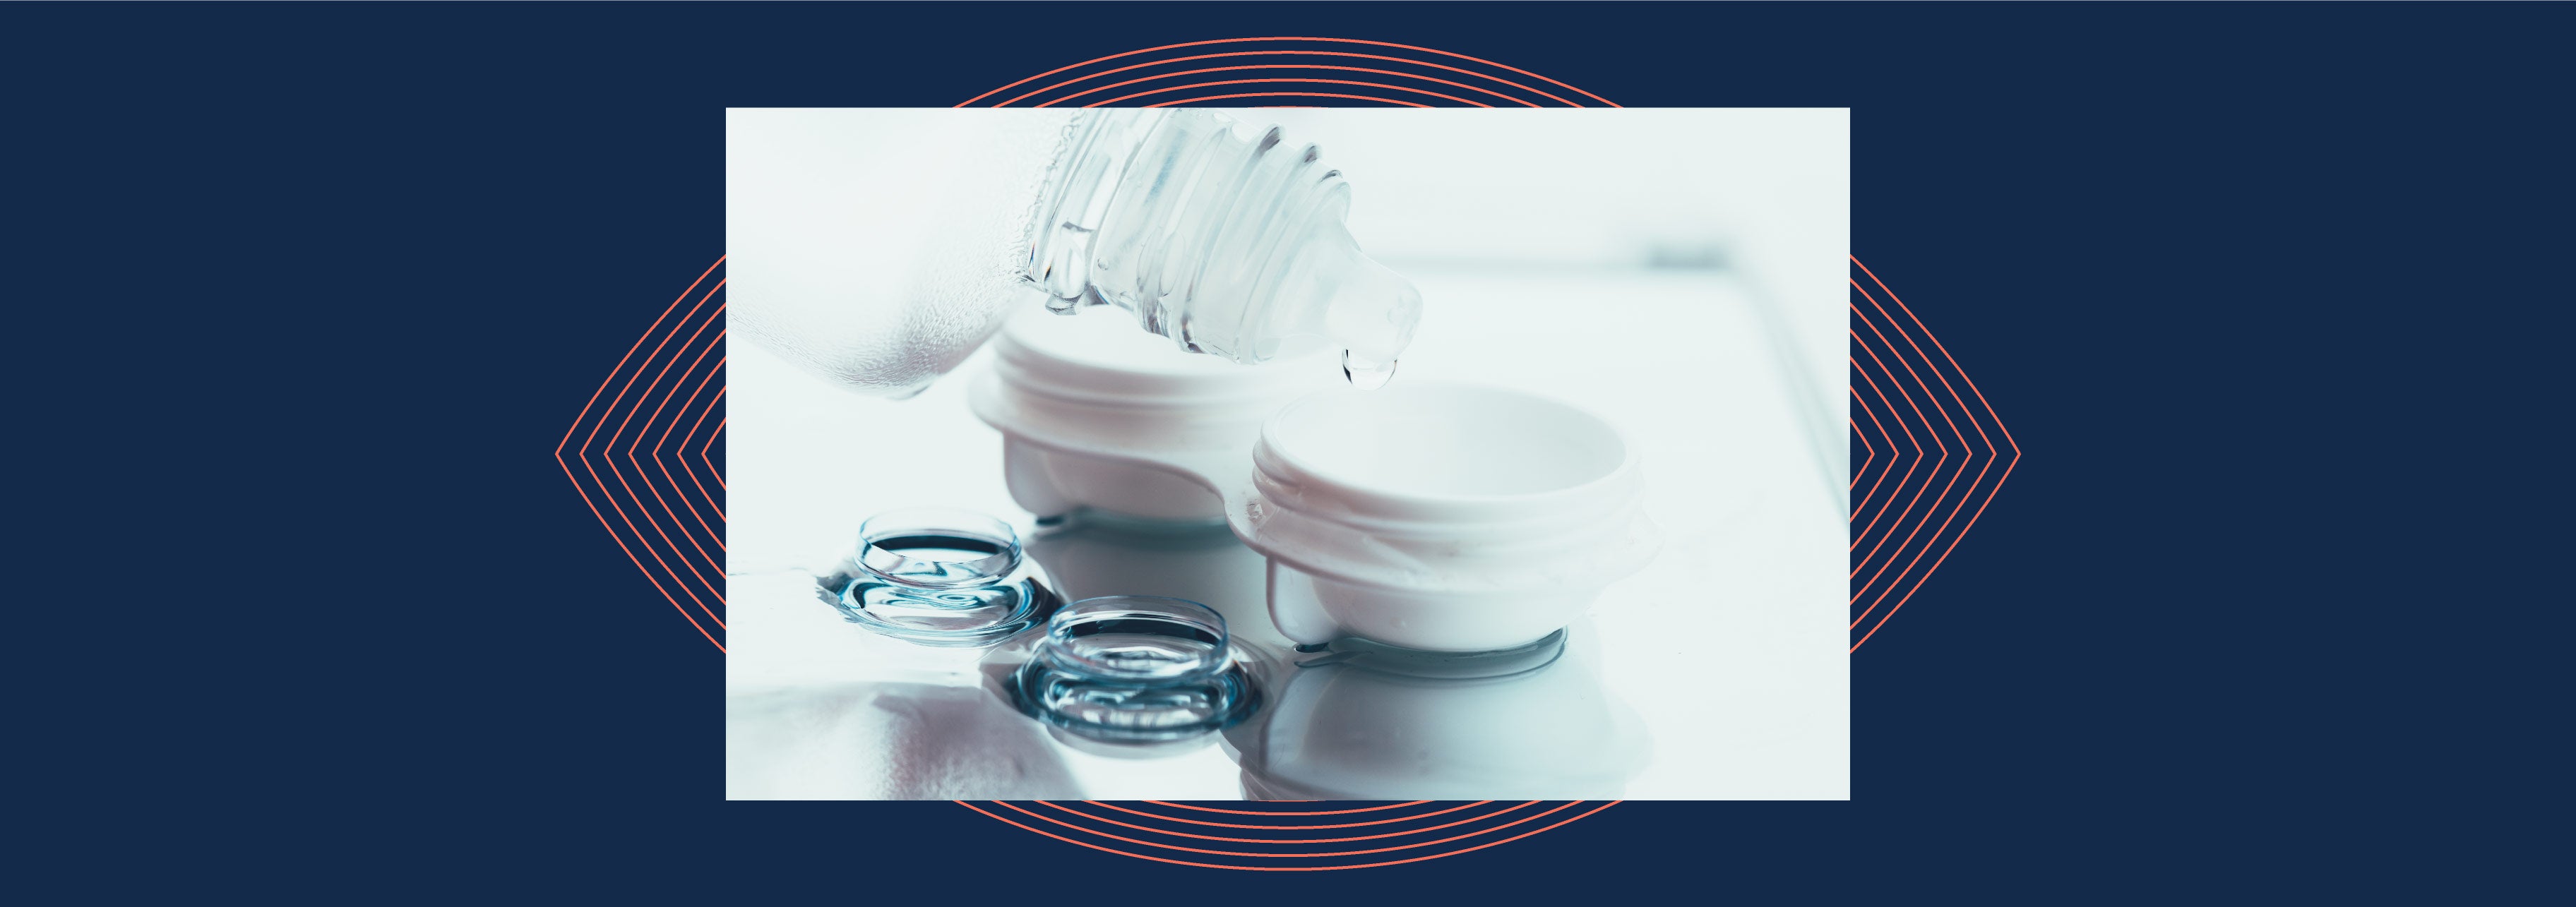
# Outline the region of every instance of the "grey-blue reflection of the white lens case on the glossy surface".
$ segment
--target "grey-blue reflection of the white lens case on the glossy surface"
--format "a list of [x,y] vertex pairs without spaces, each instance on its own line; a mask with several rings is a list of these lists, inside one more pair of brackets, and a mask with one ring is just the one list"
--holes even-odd
[[1247,799],[1605,799],[1651,752],[1600,683],[1589,621],[1546,649],[1484,657],[1296,652],[1270,626],[1267,562],[1224,526],[1090,513],[1036,533],[1028,554],[1066,600],[1172,595],[1226,616],[1262,688],[1260,714],[1224,732]]

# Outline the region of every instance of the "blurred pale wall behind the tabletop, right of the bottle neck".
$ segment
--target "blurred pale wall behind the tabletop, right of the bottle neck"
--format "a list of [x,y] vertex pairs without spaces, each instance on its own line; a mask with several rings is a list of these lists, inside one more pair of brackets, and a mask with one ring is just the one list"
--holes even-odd
[[[1847,247],[1850,111],[1234,111],[1321,144],[1388,263],[1736,268]],[[1839,286],[1837,278],[1829,283]]]

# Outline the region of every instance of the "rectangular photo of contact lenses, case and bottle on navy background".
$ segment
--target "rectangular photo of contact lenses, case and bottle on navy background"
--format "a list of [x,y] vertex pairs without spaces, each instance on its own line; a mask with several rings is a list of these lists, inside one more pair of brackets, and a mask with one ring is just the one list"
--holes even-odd
[[726,111],[729,799],[1850,799],[1850,111]]

